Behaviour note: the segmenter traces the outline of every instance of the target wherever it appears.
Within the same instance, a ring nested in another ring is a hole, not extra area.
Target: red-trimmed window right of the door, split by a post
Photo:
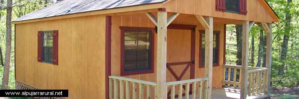
[[[213,33],[213,66],[219,66],[219,34],[220,32]],[[205,62],[205,31],[200,31],[199,42],[199,67],[204,67]]]

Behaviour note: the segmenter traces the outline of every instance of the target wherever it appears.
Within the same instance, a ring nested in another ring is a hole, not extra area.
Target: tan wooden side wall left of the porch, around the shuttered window
[[[69,99],[105,96],[104,15],[16,24],[16,80],[68,89]],[[59,65],[37,62],[37,32],[58,30]]]

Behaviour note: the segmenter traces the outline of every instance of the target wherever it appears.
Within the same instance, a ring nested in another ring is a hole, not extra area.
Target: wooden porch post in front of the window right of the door
[[[204,99],[212,97],[212,74],[213,74],[213,17],[205,17],[208,28],[205,29],[205,77],[208,78],[204,90]]]

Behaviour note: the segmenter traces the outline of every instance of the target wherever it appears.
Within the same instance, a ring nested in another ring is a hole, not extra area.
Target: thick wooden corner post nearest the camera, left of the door
[[[167,86],[166,86],[166,47],[167,47],[167,12],[165,8],[158,9],[157,16],[157,98],[167,99]]]

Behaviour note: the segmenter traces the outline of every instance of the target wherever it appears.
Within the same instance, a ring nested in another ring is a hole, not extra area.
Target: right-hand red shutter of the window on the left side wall
[[[58,30],[53,31],[53,64],[58,65]]]

